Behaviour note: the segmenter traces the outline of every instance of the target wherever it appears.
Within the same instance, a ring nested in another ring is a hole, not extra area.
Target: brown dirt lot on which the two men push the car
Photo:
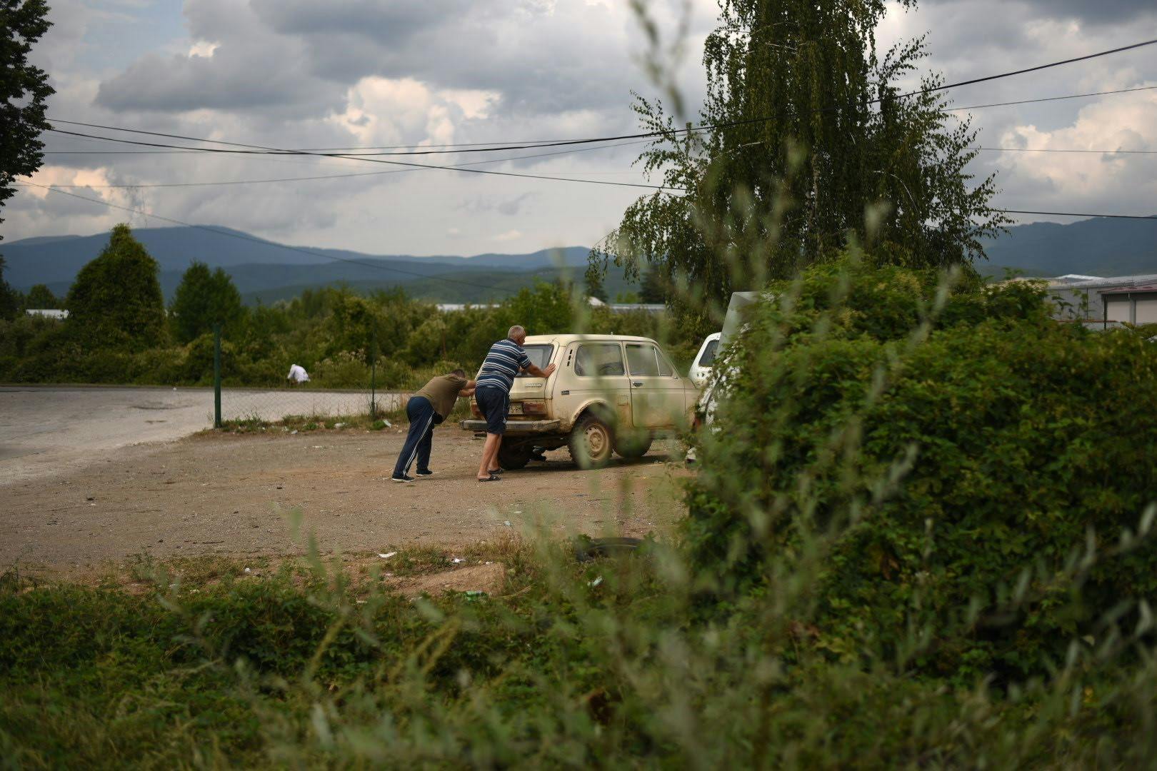
[[[673,442],[598,472],[555,451],[547,464],[480,484],[480,443],[447,427],[434,437],[435,476],[397,484],[389,476],[403,438],[349,429],[206,433],[8,482],[0,485],[0,571],[91,568],[139,554],[294,554],[302,546],[290,535],[292,512],[323,551],[346,553],[465,546],[536,522],[560,534],[664,533],[681,513],[676,480],[688,472]]]

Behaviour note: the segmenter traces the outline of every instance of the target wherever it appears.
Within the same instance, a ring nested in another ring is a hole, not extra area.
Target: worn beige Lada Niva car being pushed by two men
[[[639,458],[656,438],[690,423],[699,391],[681,377],[658,343],[626,335],[533,335],[523,343],[548,378],[522,373],[510,390],[507,430],[499,450],[502,468],[522,468],[531,452],[566,445],[581,468],[599,468],[611,451]],[[476,418],[478,405],[471,400]],[[465,420],[467,431],[486,430]]]

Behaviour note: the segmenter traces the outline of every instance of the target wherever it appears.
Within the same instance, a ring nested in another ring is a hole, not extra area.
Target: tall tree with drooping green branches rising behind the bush
[[[1008,220],[989,207],[995,176],[966,169],[975,132],[948,112],[938,75],[899,87],[928,55],[924,38],[877,54],[884,0],[720,6],[703,52],[708,128],[688,131],[661,101],[636,97],[657,133],[639,163],[676,192],[628,207],[592,250],[591,273],[649,265],[686,287],[684,302],[669,299],[709,325],[732,290],[791,276],[850,239],[909,267],[983,257]]]

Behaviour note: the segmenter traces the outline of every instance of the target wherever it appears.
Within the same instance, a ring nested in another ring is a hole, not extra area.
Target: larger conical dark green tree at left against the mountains
[[[68,290],[68,328],[91,348],[157,346],[164,341],[164,297],[160,266],[126,224],[88,262]]]

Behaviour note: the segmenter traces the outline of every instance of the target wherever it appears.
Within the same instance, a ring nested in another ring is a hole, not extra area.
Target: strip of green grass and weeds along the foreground
[[[487,561],[506,576],[487,595],[410,600],[386,576]],[[96,585],[9,571],[0,751],[27,768],[943,768],[1151,750],[1143,660],[953,688],[834,659],[771,595],[705,621],[685,570],[662,543],[578,563],[510,541],[142,557]]]

